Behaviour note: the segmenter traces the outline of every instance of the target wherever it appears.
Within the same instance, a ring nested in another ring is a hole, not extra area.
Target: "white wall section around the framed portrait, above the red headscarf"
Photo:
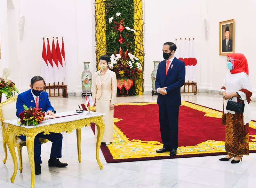
[[[223,13],[223,7],[228,5],[228,14]],[[255,44],[256,36],[256,1],[255,0],[215,0],[209,1],[210,28],[209,48],[210,61],[212,63],[212,87],[219,90],[226,74],[226,56],[219,56],[219,22],[235,19],[235,52],[243,53],[248,61],[249,77],[253,89],[253,97],[256,97],[256,63]],[[222,7],[222,11],[220,11]],[[202,62],[203,63],[203,62]]]

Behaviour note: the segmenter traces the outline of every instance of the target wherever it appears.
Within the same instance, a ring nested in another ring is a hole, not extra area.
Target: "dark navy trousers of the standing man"
[[[178,126],[180,106],[170,107],[165,103],[159,105],[159,122],[164,148],[178,148]]]

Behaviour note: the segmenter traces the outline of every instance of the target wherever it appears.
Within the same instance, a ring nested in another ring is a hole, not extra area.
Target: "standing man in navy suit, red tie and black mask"
[[[165,60],[158,65],[156,73],[157,104],[163,148],[157,153],[177,154],[179,108],[181,105],[180,87],[185,83],[185,63],[174,57],[177,46],[172,42],[164,43]]]

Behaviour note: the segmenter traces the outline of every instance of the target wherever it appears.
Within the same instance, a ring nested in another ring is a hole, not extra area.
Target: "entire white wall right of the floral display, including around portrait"
[[[224,7],[228,5],[228,13]],[[151,88],[153,61],[163,60],[162,45],[175,38],[195,37],[198,89],[220,90],[227,71],[226,56],[219,55],[219,22],[235,19],[235,52],[248,60],[253,97],[256,97],[255,0],[182,0],[144,1],[145,22],[145,90]],[[207,19],[208,39],[204,34]]]

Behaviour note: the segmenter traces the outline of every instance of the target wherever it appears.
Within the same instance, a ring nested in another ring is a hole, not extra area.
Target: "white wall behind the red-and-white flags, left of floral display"
[[[31,77],[40,74],[42,38],[49,37],[52,47],[53,36],[59,37],[59,43],[61,37],[64,37],[68,92],[81,92],[83,61],[92,61],[95,51],[92,44],[95,30],[92,25],[94,1],[12,0],[11,2],[14,5],[12,10],[6,9],[6,0],[1,1],[0,4],[3,18],[8,20],[4,24],[1,22],[0,73],[3,68],[11,67],[10,78],[21,91],[26,90]],[[25,17],[22,40],[19,33],[21,16]],[[8,36],[3,36],[2,32],[7,33],[5,30],[8,31]],[[45,43],[47,45],[47,40]],[[9,50],[9,54],[3,49]],[[93,64],[95,62],[90,65],[91,72],[95,70]]]

